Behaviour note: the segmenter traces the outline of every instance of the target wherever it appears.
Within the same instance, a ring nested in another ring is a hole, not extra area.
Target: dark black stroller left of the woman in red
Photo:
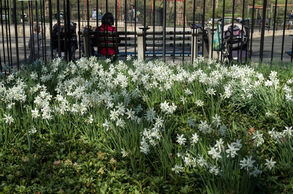
[[[52,59],[60,57],[62,61],[66,61],[65,59],[65,33],[66,29],[64,27],[64,23],[60,23],[60,37],[58,37],[58,23],[56,23],[52,30],[52,37],[53,37],[53,56]],[[70,22],[70,33],[71,33],[71,48],[67,48],[67,50],[71,49],[71,59],[75,58],[75,51],[78,49],[77,45],[77,36],[76,36],[76,23]],[[60,39],[61,45],[61,56],[59,56],[58,50],[58,38]],[[68,52],[67,52],[68,55]]]

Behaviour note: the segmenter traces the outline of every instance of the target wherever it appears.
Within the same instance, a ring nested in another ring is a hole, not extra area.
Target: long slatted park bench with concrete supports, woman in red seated
[[[119,35],[119,37],[116,38],[116,33],[117,35]],[[183,51],[166,51],[165,52],[165,56],[166,57],[182,57],[183,55],[186,57],[193,57],[194,59],[197,58],[198,55],[201,55],[201,52],[197,52],[197,48],[198,47],[202,47],[202,41],[197,42],[199,37],[202,37],[202,35],[204,35],[204,39],[207,40],[209,35],[208,35],[208,30],[205,30],[204,32],[201,31],[197,31],[195,30],[195,34],[193,35],[193,31],[185,31],[185,37],[183,38],[183,32],[182,31],[177,31],[177,32],[166,32],[166,44],[165,44],[165,48],[168,47],[183,47],[183,43],[182,42],[175,42],[174,44],[174,39],[175,41],[183,41],[183,39],[185,41],[189,41],[191,40],[191,43],[185,42],[184,43],[184,47],[191,47],[192,48],[192,42],[195,42],[195,47],[194,47],[194,52],[192,53],[192,51],[185,51],[183,53]],[[146,40],[144,40],[143,37],[143,31],[142,30],[137,30],[136,32],[95,32],[95,31],[89,31],[88,29],[83,30],[82,32],[79,32],[79,35],[83,36],[83,43],[80,42],[80,46],[84,47],[84,56],[85,57],[89,57],[92,55],[95,55],[96,57],[99,57],[98,52],[95,52],[94,54],[91,53],[91,47],[94,47],[95,50],[97,47],[137,47],[137,52],[119,52],[117,53],[117,57],[126,57],[127,55],[130,56],[136,56],[138,57],[138,59],[142,59],[145,57],[160,57],[163,56],[163,52],[162,49],[159,49],[160,51],[145,51],[144,52],[144,47],[153,47],[153,48],[160,48],[163,47],[163,32],[146,32]],[[126,35],[126,38],[125,38]],[[134,36],[136,35],[136,36]],[[155,35],[155,38],[154,38]],[[175,38],[174,38],[175,35]],[[107,37],[108,36],[108,37]],[[211,36],[211,35],[210,35]],[[194,38],[194,40],[193,40]],[[211,42],[211,37],[209,37],[209,42],[208,44],[204,44],[204,47],[202,48],[202,50],[204,50],[204,54],[205,57],[209,57],[209,45]],[[118,42],[118,40],[120,40],[120,43],[116,43]],[[136,41],[136,43],[134,44],[133,41]],[[158,41],[158,42],[150,42],[152,40]],[[98,42],[105,42],[105,43],[98,43]],[[109,41],[113,42],[113,43],[108,43]],[[127,41],[132,41],[131,43],[127,42]],[[148,42],[146,42],[148,41]],[[169,41],[172,41],[172,43],[170,43]],[[90,43],[90,45],[88,45],[88,43]]]

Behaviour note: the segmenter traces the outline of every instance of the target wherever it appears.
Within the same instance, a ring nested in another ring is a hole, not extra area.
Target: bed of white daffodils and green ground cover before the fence
[[[292,70],[26,65],[0,81],[0,193],[293,192]]]

